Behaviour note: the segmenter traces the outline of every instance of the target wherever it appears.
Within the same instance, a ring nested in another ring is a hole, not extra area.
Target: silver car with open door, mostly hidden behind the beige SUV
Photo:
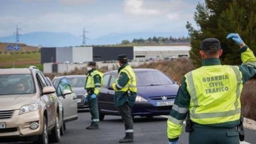
[[[54,86],[50,80],[47,79],[47,84]],[[77,97],[76,94],[72,91],[72,88],[69,84],[69,81],[66,77],[63,77],[59,80],[55,86],[57,97],[62,104],[63,112],[63,127],[61,127],[61,134],[64,135],[64,130],[66,130],[66,123],[72,120],[77,120]]]

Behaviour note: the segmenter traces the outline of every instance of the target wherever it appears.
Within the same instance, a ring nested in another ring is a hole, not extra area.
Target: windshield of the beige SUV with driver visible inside
[[[2,74],[0,75],[0,95],[32,94],[35,87],[31,74]]]

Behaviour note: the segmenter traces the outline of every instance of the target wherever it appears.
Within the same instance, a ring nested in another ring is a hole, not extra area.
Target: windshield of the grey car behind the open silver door
[[[84,87],[86,77],[73,77],[73,78],[67,78],[69,80],[69,84],[71,87]],[[60,79],[55,79],[53,81],[53,85],[56,87],[59,83]]]

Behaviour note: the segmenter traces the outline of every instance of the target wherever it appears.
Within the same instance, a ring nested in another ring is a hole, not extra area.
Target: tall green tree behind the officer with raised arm
[[[227,40],[228,33],[239,33],[244,42],[256,50],[256,0],[205,0],[199,3],[194,21],[199,30],[187,22],[186,28],[191,39],[190,57],[196,67],[201,66],[199,49],[205,38],[218,38],[223,48],[220,57],[223,64],[241,64],[238,46]]]

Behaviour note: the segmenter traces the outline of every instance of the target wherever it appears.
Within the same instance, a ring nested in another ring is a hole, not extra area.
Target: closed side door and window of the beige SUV
[[[45,79],[43,78],[43,75],[40,72],[37,72],[36,79],[38,81],[40,91],[41,93],[43,93],[43,88],[47,86]],[[41,96],[41,99],[43,100],[43,102],[45,102],[45,105],[46,105],[48,127],[51,127],[52,125],[55,124],[55,118],[54,118],[55,103],[51,99],[51,94],[44,94]]]

